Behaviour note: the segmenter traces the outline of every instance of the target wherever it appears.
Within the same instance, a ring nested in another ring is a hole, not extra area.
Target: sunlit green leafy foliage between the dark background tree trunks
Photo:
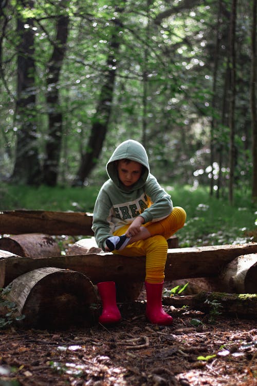
[[[89,182],[97,183],[101,179],[106,158],[120,138],[141,140],[145,129],[154,174],[163,181],[172,179],[181,184],[208,184],[210,124],[214,119],[214,161],[218,163],[219,157],[223,157],[221,189],[226,189],[229,130],[227,122],[222,119],[223,108],[226,110],[227,106],[222,103],[226,99],[229,2],[224,2],[223,12],[219,15],[218,39],[222,49],[218,52],[215,105],[212,98],[217,2],[184,4],[161,1],[152,2],[150,7],[141,0],[119,2],[118,5],[113,0],[107,5],[102,0],[43,1],[34,2],[33,7],[20,1],[4,3],[0,179],[7,179],[12,173],[19,133],[15,100],[16,59],[21,36],[16,33],[16,18],[22,18],[24,25],[28,19],[33,23],[36,76],[31,93],[36,95],[36,106],[29,114],[31,118],[28,116],[26,119],[31,119],[36,127],[36,144],[42,162],[48,138],[47,68],[53,48],[58,46],[56,25],[62,15],[69,17],[69,38],[60,80],[58,85],[52,84],[59,90],[59,100],[54,109],[63,114],[59,182],[70,183],[80,166],[81,154],[86,150],[92,123],[96,119],[103,78],[109,68],[107,59],[114,54],[110,42],[116,32],[119,50],[113,59],[117,71],[112,116],[99,166],[94,169]],[[251,13],[243,2],[238,7],[236,39],[240,49],[237,50],[236,74],[235,183],[249,189],[252,172],[249,130]],[[197,170],[203,173],[195,176]]]

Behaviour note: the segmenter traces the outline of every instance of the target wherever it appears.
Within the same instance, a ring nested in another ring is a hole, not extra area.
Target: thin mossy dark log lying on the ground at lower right
[[[221,292],[199,292],[196,295],[187,296],[164,296],[164,305],[176,308],[188,306],[203,312],[210,312],[216,307],[216,311],[240,315],[247,319],[257,317],[257,295],[256,294],[234,294]],[[220,305],[220,306],[219,306]]]

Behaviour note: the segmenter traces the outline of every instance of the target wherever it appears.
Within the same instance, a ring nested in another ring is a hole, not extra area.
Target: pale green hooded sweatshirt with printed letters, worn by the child
[[[118,177],[115,161],[122,159],[144,166],[139,180],[129,188]],[[169,216],[173,209],[170,195],[150,173],[148,156],[139,142],[132,139],[122,142],[107,162],[106,171],[109,180],[99,191],[92,226],[96,242],[102,249],[104,241],[113,236],[114,231],[132,223],[136,216],[142,216],[144,223],[154,222]]]

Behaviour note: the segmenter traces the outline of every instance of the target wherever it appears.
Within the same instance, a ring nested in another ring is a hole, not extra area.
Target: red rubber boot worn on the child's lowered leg
[[[153,324],[159,326],[170,326],[173,323],[173,318],[162,309],[162,283],[151,284],[144,283],[146,289],[146,318]]]

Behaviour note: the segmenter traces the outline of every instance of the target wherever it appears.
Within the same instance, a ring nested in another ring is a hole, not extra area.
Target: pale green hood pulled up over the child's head
[[[150,172],[148,155],[145,151],[145,148],[139,142],[134,141],[134,139],[128,139],[127,141],[122,142],[114,150],[111,158],[107,162],[106,171],[108,173],[109,178],[111,178],[111,180],[113,180],[115,185],[118,186],[119,188],[122,188],[123,185],[119,180],[117,165],[115,161],[124,160],[124,159],[138,162],[144,166],[140,179],[136,182],[136,184],[132,188],[130,188],[130,190],[140,188],[145,184],[145,181],[147,180]],[[127,190],[127,189],[124,189],[124,190]]]

